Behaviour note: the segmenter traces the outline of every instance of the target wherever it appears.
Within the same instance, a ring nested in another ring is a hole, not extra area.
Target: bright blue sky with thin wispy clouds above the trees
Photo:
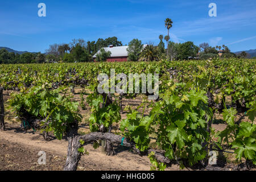
[[[46,4],[46,17],[38,4]],[[217,17],[210,17],[216,3]],[[196,45],[225,44],[231,51],[256,49],[255,0],[17,0],[0,3],[0,47],[45,52],[50,44],[117,36],[123,45],[138,38],[159,43],[167,35],[164,19],[171,18],[171,40]]]

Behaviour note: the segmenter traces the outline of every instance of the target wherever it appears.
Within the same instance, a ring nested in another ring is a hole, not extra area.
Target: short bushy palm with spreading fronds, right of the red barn
[[[147,45],[141,55],[139,56],[139,61],[158,61],[158,50],[153,45]]]

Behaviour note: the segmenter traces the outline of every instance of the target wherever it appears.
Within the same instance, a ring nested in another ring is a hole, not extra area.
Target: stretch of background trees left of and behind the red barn
[[[79,63],[92,61],[92,56],[101,48],[122,46],[122,42],[113,36],[106,39],[98,39],[97,42],[85,42],[84,39],[73,39],[70,43],[52,44],[46,53],[26,52],[22,55],[8,52],[5,48],[0,50],[0,64],[30,64],[30,63]]]

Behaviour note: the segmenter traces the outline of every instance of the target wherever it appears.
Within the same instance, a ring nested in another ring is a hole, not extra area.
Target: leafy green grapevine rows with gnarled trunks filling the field
[[[81,155],[90,155],[89,143],[106,155],[119,155],[117,145],[130,148],[148,156],[152,170],[172,164],[221,170],[211,164],[220,151],[235,155],[233,169],[254,169],[255,65],[254,59],[0,65],[0,93],[9,97],[4,111],[1,106],[0,132],[6,132],[5,122],[13,116],[25,131],[42,131],[47,141],[49,133],[66,138],[68,171],[77,169]],[[98,93],[97,77],[111,77],[110,69],[115,76],[151,73],[153,82],[159,74],[158,99],[130,90]],[[225,128],[216,130],[216,122]],[[81,127],[89,132],[79,132]]]

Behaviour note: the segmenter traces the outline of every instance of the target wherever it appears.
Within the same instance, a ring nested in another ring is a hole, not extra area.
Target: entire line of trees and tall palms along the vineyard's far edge
[[[148,43],[143,47],[141,40],[133,39],[129,42],[127,48],[129,61],[159,61],[167,60],[187,60],[187,59],[210,59],[214,57],[238,57],[245,58],[247,53],[241,52],[236,55],[225,46],[210,47],[208,43],[202,43],[196,46],[193,42],[175,43],[170,41],[170,28],[172,20],[167,18],[164,25],[168,30],[166,36],[159,35],[160,42],[158,46]],[[167,48],[165,43],[167,44]],[[70,43],[52,44],[46,50],[46,53],[18,53],[8,52],[6,49],[0,50],[0,64],[27,64],[27,63],[79,63],[93,61],[93,55],[96,55],[96,61],[106,61],[111,56],[111,52],[106,52],[104,47],[110,45],[123,46],[117,37],[113,36],[106,39],[98,39],[97,42],[85,42],[84,39],[73,39]],[[100,50],[100,51],[99,51]]]

